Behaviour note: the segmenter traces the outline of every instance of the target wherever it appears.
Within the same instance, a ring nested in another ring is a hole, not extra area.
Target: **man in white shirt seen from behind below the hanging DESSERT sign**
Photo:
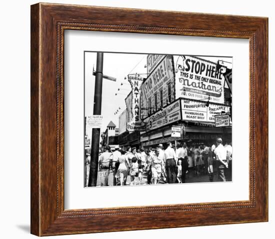
[[[214,150],[214,153],[216,154],[216,160],[217,160],[217,171],[218,171],[218,179],[219,181],[226,181],[225,175],[224,175],[224,169],[228,168],[228,163],[226,162],[226,154],[227,150],[222,145],[222,139],[221,137],[218,137],[216,139],[217,147]]]

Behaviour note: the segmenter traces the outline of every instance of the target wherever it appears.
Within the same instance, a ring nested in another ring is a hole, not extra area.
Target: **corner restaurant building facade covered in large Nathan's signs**
[[[147,77],[140,92],[145,126],[130,133],[125,127],[121,134],[119,130],[119,145],[146,148],[177,141],[210,145],[217,136],[230,143],[231,92],[224,78],[230,70],[218,61],[196,56],[148,54]],[[216,127],[215,115],[221,114],[228,114],[230,122]],[[119,124],[127,123],[125,113],[120,116]],[[181,128],[180,136],[172,136],[172,126]]]

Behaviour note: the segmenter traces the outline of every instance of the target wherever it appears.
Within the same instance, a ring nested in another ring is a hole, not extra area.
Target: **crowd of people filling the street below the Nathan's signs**
[[[167,143],[155,148],[137,149],[128,146],[126,151],[118,146],[114,151],[106,146],[99,155],[99,170],[108,169],[113,172],[113,185],[126,185],[130,177],[130,185],[158,183],[184,183],[186,173],[194,175],[207,174],[209,181],[231,181],[232,147],[216,138],[212,145],[186,142],[174,145]]]

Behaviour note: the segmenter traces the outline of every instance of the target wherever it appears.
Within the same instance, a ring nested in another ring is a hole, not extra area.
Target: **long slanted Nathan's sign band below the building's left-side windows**
[[[180,102],[179,100],[176,100],[164,107],[162,110],[159,110],[146,118],[146,130],[159,128],[178,120],[180,120]]]

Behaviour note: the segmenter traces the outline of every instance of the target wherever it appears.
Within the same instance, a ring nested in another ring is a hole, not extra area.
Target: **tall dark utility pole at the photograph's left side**
[[[93,99],[94,115],[101,114],[102,76],[103,76],[102,71],[103,71],[103,52],[97,52],[94,99]],[[90,171],[89,171],[88,186],[96,186],[98,154],[99,154],[99,138],[100,138],[100,128],[93,128],[92,134],[91,134]]]

